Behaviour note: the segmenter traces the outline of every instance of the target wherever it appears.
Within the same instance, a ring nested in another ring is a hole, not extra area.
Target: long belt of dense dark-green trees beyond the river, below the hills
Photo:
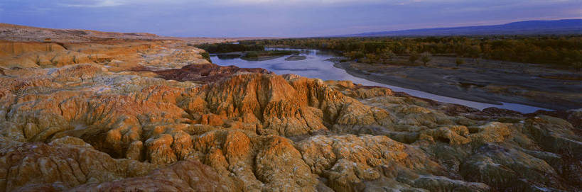
[[[297,38],[247,40],[242,41],[239,46],[257,48],[286,46],[335,50],[342,52],[346,57],[365,62],[382,62],[396,55],[423,57],[420,55],[424,53],[424,55],[551,64],[559,68],[582,68],[582,36],[580,35],[473,38]]]

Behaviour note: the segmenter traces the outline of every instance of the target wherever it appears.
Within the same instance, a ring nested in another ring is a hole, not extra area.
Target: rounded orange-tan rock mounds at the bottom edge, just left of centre
[[[234,175],[249,191],[313,191],[319,182],[290,140],[240,130],[212,131],[195,139],[205,164]]]

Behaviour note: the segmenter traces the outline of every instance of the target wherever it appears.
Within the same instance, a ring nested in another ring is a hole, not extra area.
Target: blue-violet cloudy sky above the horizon
[[[315,37],[582,18],[582,0],[1,0],[0,23],[179,37]]]

